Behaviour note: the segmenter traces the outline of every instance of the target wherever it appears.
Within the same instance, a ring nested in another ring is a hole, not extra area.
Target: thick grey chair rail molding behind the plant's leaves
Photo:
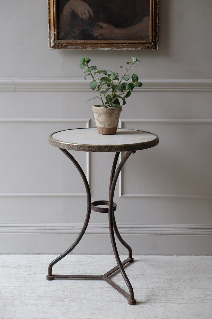
[[[212,79],[140,79],[138,92],[212,92]],[[90,92],[83,78],[0,78],[0,91],[73,91]]]

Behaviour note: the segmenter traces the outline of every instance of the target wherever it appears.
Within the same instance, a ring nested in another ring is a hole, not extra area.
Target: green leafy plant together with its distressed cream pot
[[[89,65],[91,62],[89,57],[80,57],[80,68],[86,68],[84,78],[90,76],[92,78],[92,82],[89,84],[90,88],[99,93],[88,101],[101,100],[99,105],[92,106],[99,134],[116,133],[122,105],[126,104],[126,98],[131,95],[134,87],[142,86],[137,74],[128,74],[133,64],[139,63],[136,57],[132,56],[131,60],[132,62],[127,62],[127,68],[120,66],[124,69],[123,75],[120,77],[116,71],[99,70],[96,65]]]

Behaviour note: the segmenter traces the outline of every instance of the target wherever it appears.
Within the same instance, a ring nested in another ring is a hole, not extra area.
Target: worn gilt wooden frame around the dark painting
[[[58,40],[57,0],[48,0],[49,48],[51,49],[111,49],[111,50],[157,50],[159,0],[150,1],[149,41],[126,40]]]

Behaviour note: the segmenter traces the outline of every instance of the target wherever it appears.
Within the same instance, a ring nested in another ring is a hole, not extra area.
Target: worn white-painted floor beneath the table
[[[125,270],[135,306],[102,280],[47,281],[48,264],[55,257],[0,256],[0,318],[212,318],[212,256],[134,256]],[[115,265],[113,256],[69,255],[53,273],[103,274]],[[113,280],[126,289],[120,274]]]

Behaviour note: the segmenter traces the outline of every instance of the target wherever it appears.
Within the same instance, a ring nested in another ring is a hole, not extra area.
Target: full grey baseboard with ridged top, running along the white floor
[[[0,253],[60,254],[77,238],[82,224],[0,224]],[[211,255],[212,225],[118,225],[134,254]],[[126,249],[117,241],[120,254]],[[112,254],[109,228],[91,224],[74,249],[77,254]]]

